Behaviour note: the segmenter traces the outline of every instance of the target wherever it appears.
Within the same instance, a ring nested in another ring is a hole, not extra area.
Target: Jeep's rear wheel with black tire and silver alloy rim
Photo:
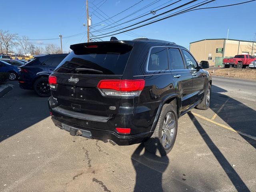
[[[168,114],[170,118],[166,122]],[[149,140],[144,142],[146,150],[154,154],[161,154],[161,156],[168,154],[174,146],[177,130],[178,116],[176,108],[172,104],[164,104],[154,133]]]

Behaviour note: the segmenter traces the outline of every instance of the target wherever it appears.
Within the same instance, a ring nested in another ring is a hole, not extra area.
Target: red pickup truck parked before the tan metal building
[[[251,55],[236,55],[234,58],[223,59],[224,68],[229,68],[230,66],[236,68],[246,68],[249,66],[250,62],[254,61],[255,58]]]

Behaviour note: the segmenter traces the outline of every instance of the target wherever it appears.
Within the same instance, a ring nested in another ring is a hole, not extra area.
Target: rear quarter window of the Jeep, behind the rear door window
[[[148,70],[158,71],[168,69],[168,58],[165,47],[155,47],[151,49]]]

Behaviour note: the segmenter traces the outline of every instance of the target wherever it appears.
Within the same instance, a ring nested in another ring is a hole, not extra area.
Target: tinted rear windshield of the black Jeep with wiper
[[[132,47],[102,47],[71,52],[56,72],[70,74],[122,75]],[[76,53],[75,53],[76,52]]]

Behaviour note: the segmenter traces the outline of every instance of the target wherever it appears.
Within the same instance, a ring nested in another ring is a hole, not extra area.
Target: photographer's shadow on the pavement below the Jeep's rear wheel
[[[156,155],[148,152],[144,144],[140,144],[132,154],[132,164],[136,170],[134,192],[163,192],[162,175],[169,164],[166,155]]]

